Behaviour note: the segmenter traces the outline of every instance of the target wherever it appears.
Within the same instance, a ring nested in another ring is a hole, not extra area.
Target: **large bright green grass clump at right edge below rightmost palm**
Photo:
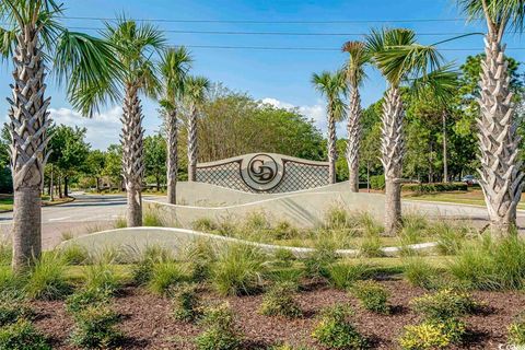
[[[516,234],[501,240],[485,236],[466,245],[450,265],[463,284],[481,290],[525,288],[525,242]]]

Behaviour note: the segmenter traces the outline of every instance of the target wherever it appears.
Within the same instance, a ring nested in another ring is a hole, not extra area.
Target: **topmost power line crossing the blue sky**
[[[83,21],[118,21],[118,18],[95,16],[62,16],[65,20]],[[464,18],[456,19],[411,19],[411,20],[330,20],[330,21],[260,21],[260,20],[170,20],[170,19],[131,19],[137,22],[163,22],[163,23],[228,23],[228,24],[357,24],[357,23],[425,23],[425,22],[458,22],[466,21]]]

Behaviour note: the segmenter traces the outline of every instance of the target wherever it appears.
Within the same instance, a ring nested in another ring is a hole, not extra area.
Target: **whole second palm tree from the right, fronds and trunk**
[[[410,30],[373,30],[366,36],[366,48],[388,82],[383,102],[381,161],[385,173],[385,233],[394,235],[401,222],[405,115],[401,84],[411,85],[417,92],[430,86],[440,94],[442,84],[450,82],[450,66],[440,68],[441,56],[435,47],[417,44]],[[435,71],[430,72],[432,69]]]

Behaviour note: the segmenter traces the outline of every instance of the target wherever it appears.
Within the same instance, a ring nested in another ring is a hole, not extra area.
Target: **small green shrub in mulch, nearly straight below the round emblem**
[[[262,298],[259,312],[266,316],[300,317],[303,312],[293,299],[295,285],[291,283],[278,283]]]

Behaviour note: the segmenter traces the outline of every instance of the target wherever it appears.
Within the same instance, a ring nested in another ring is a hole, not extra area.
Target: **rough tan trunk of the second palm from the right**
[[[383,104],[381,144],[381,162],[385,172],[385,234],[387,235],[395,235],[401,222],[402,118],[399,88],[390,86]]]

